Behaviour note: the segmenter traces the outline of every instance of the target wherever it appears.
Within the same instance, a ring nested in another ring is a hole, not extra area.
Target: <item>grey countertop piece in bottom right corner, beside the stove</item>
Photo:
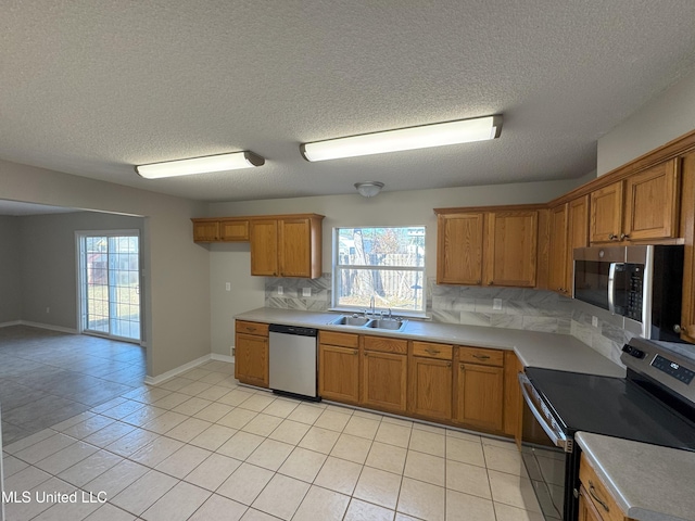
[[[628,517],[695,521],[695,453],[586,432],[576,440]]]

